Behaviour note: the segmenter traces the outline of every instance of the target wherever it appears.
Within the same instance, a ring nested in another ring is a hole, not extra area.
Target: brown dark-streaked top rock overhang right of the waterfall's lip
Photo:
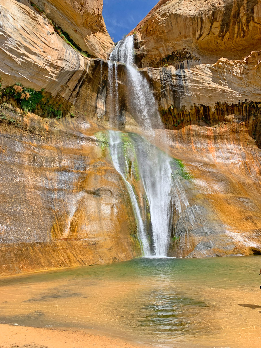
[[[241,60],[260,50],[259,0],[161,0],[133,30],[140,66]],[[132,32],[132,33],[133,33]]]

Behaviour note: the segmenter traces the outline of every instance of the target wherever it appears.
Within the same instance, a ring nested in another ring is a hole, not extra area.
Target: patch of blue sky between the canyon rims
[[[128,34],[158,0],[103,0],[103,18],[114,42]]]

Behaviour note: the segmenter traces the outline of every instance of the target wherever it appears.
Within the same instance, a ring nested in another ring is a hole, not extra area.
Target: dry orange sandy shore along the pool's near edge
[[[84,331],[0,324],[1,348],[148,348],[120,338]],[[150,347],[151,348],[151,347]]]

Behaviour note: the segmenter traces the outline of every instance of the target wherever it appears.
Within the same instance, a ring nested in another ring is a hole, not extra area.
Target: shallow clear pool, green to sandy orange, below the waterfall
[[[260,256],[142,258],[0,279],[0,322],[171,347],[259,348]]]

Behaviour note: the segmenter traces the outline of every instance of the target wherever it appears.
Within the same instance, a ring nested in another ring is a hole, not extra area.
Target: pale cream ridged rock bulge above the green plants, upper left
[[[51,35],[48,19],[25,0],[2,1],[0,16],[2,87],[20,82],[72,102],[89,60]]]

